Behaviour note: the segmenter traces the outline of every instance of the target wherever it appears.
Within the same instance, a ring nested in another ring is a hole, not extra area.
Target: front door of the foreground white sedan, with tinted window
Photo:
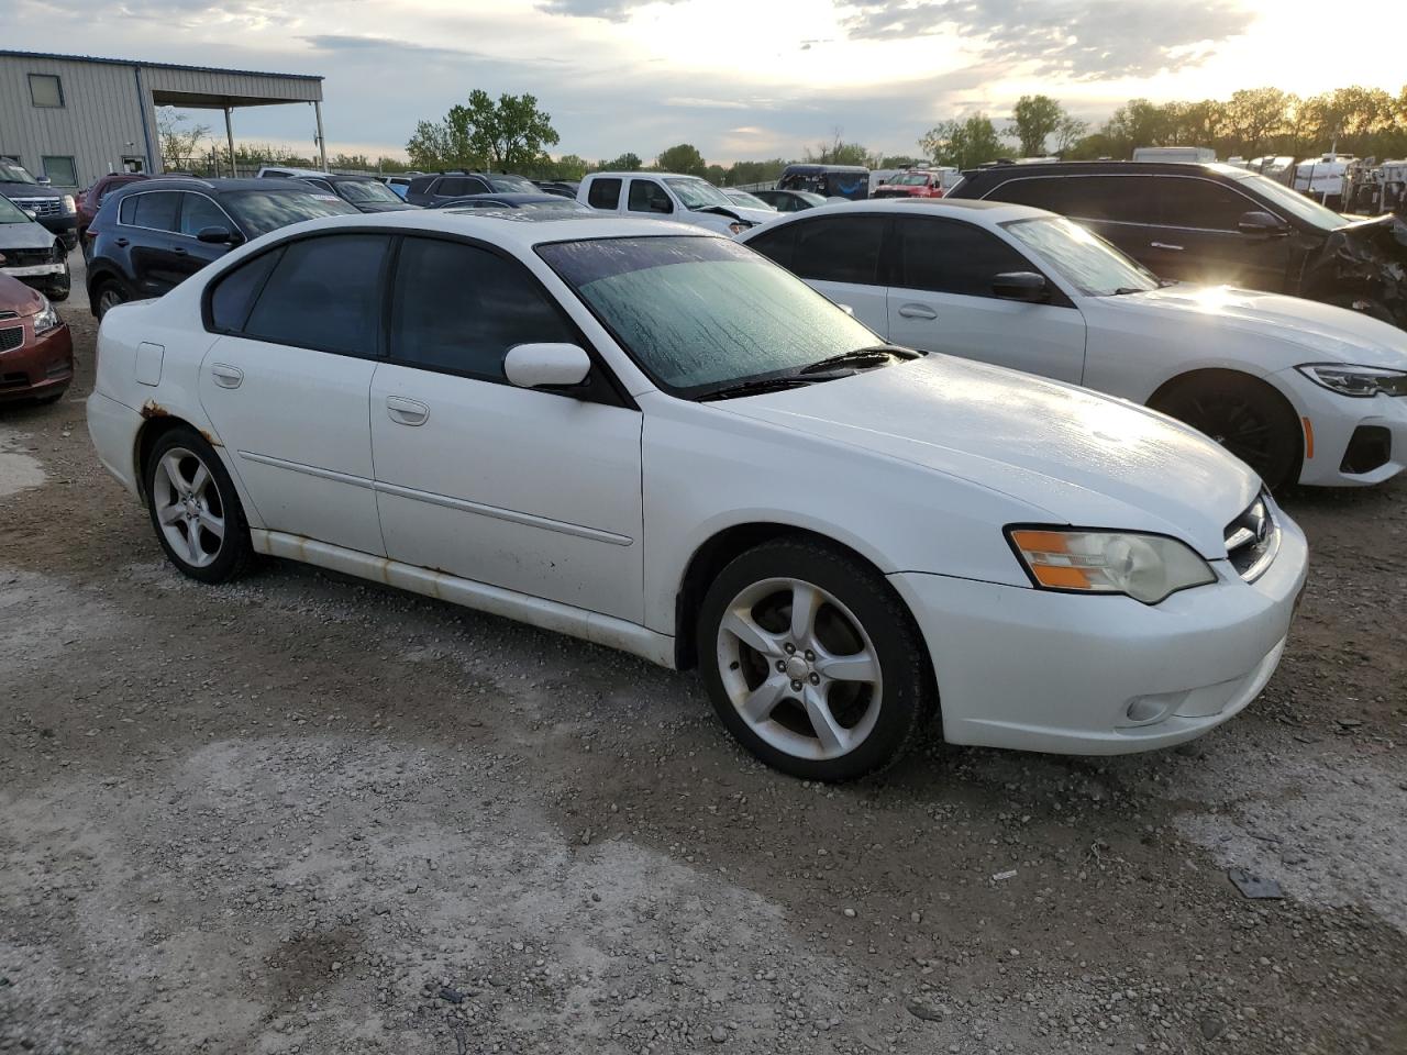
[[[519,262],[432,238],[402,243],[393,305],[370,404],[387,554],[640,622],[640,412],[504,377],[512,346],[577,329]]]

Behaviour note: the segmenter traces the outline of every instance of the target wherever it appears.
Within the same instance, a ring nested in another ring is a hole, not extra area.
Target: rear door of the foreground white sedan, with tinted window
[[[231,269],[211,293],[227,332],[200,373],[215,439],[265,525],[378,556],[367,398],[388,243],[322,235]]]

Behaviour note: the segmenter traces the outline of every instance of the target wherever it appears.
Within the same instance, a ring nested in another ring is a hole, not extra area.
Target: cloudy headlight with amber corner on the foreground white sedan
[[[1157,605],[1179,589],[1217,581],[1190,546],[1165,535],[1009,528],[1007,537],[1037,589],[1126,594]]]

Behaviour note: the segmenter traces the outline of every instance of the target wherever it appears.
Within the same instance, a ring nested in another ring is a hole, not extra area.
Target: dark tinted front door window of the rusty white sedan
[[[521,264],[459,242],[408,238],[397,264],[391,356],[501,380],[514,345],[580,338]]]

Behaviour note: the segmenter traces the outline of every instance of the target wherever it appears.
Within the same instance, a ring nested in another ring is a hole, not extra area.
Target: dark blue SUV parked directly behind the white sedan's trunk
[[[152,179],[121,187],[89,234],[89,307],[97,318],[160,297],[236,245],[301,219],[356,212],[298,180]]]

